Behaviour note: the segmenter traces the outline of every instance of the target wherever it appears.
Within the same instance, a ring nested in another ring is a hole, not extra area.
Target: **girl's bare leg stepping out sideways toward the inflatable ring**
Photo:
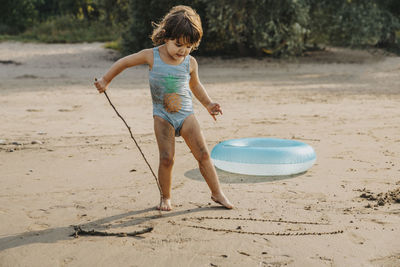
[[[199,163],[200,172],[211,190],[211,199],[228,209],[232,209],[233,205],[221,190],[218,175],[212,164],[199,122],[194,115],[185,119],[180,133]]]

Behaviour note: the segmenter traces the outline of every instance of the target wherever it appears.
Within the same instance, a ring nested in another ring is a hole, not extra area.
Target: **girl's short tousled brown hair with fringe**
[[[181,39],[185,44],[197,48],[203,36],[200,16],[191,7],[175,6],[164,16],[151,35],[154,45],[161,45],[168,39]]]

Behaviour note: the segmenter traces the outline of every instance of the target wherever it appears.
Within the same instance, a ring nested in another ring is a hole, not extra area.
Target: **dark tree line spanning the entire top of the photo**
[[[122,48],[130,53],[151,46],[151,22],[178,4],[202,18],[201,54],[298,55],[315,44],[400,46],[399,0],[0,0],[0,34],[68,16],[124,29]]]

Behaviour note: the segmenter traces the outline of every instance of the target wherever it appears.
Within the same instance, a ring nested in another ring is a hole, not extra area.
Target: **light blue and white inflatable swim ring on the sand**
[[[211,151],[214,165],[224,171],[247,175],[292,175],[311,168],[314,149],[303,142],[277,138],[232,139]]]

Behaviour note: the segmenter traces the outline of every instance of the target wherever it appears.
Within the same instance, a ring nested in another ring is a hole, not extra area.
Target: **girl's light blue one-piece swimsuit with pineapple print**
[[[179,65],[162,61],[158,47],[153,48],[154,62],[149,73],[153,116],[168,121],[180,136],[183,121],[193,114],[190,81],[190,56]]]

